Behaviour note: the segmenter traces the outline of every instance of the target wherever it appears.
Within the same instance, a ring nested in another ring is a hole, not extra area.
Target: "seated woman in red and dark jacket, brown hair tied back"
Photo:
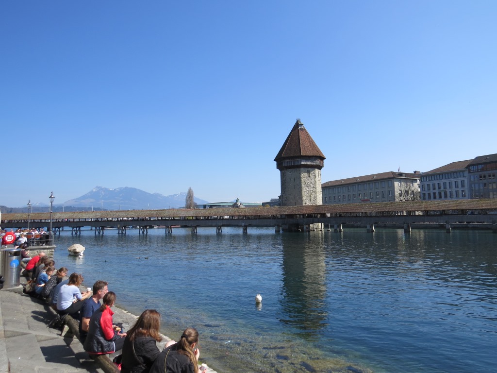
[[[84,351],[88,354],[112,354],[123,348],[126,333],[112,325],[111,307],[116,301],[116,293],[109,291],[104,295],[103,304],[93,313],[88,326],[88,334],[84,340]]]

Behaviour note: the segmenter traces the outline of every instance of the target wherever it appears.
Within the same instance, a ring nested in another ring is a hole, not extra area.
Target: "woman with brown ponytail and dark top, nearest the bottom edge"
[[[177,343],[159,354],[150,373],[198,373],[199,356],[198,332],[186,328]]]

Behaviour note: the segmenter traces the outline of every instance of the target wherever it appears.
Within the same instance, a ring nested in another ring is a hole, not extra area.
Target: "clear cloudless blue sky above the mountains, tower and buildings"
[[[296,118],[323,182],[496,153],[496,18],[494,0],[3,0],[0,204],[268,200]]]

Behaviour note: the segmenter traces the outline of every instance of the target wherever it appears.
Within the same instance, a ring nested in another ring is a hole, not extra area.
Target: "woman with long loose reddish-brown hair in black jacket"
[[[160,329],[161,314],[155,309],[143,311],[126,334],[122,351],[122,373],[149,373],[161,353],[156,345],[156,341],[162,340]]]

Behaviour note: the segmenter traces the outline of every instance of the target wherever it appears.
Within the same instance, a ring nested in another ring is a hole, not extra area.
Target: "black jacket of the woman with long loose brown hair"
[[[134,354],[132,347],[135,347]],[[122,351],[121,373],[148,373],[160,353],[156,340],[150,336],[135,337],[133,346],[126,337]]]

